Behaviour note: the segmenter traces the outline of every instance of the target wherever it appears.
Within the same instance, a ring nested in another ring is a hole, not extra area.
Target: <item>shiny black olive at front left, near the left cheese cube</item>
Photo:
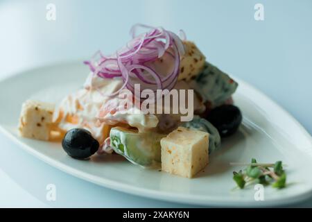
[[[98,150],[98,141],[92,137],[88,130],[74,128],[65,134],[62,147],[71,157],[85,159]]]

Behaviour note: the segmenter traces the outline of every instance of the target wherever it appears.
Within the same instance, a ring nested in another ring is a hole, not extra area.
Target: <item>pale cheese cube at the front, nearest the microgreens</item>
[[[160,144],[162,171],[192,178],[208,164],[209,133],[179,127]]]

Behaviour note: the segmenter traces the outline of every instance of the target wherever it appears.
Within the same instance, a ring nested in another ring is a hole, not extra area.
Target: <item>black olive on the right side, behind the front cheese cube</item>
[[[220,105],[207,116],[207,120],[217,128],[221,137],[228,137],[236,132],[243,117],[235,105]]]

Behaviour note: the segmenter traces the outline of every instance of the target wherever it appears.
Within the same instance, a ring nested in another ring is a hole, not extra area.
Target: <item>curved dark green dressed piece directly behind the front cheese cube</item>
[[[218,130],[206,119],[200,118],[197,115],[192,121],[183,122],[182,126],[193,130],[200,130],[209,133],[209,153],[212,153],[221,145],[221,137]]]

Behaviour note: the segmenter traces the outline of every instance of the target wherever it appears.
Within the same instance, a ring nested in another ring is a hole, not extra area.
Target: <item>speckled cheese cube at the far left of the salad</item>
[[[19,133],[22,137],[49,140],[54,105],[28,100],[21,107]]]

